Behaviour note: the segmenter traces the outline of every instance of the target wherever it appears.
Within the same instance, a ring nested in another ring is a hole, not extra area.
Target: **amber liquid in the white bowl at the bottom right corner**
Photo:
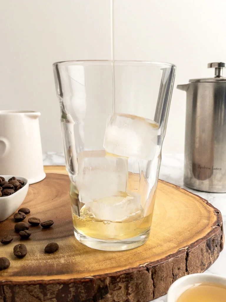
[[[193,284],[177,302],[225,302],[226,287],[215,283]]]

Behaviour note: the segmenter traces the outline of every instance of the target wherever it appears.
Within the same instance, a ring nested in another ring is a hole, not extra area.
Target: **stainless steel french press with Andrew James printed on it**
[[[215,77],[177,85],[187,92],[184,185],[226,192],[226,63],[209,63]]]

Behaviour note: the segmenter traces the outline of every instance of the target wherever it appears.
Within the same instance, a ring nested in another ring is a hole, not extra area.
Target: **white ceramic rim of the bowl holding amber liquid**
[[[192,284],[211,282],[226,286],[226,278],[213,274],[192,274],[175,281],[168,290],[167,302],[177,302],[177,299],[191,287]],[[226,300],[226,298],[225,298]]]

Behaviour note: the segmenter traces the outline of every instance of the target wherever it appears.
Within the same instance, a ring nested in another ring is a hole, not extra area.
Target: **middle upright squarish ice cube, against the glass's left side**
[[[82,151],[78,155],[78,175],[75,178],[80,201],[88,203],[127,190],[127,158],[105,151]]]

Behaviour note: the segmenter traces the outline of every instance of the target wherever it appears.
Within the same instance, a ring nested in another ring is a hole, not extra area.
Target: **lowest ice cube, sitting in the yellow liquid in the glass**
[[[118,192],[86,204],[86,209],[93,214],[95,220],[122,222],[132,221],[143,216],[140,206],[140,194],[134,192]]]

